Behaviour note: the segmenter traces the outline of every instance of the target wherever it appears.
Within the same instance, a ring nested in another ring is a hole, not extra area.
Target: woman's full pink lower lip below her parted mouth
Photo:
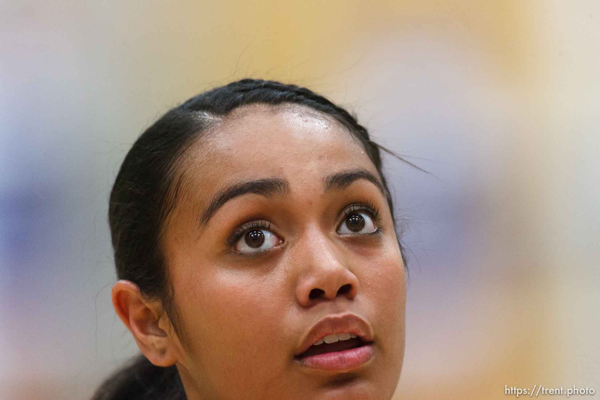
[[[349,350],[333,351],[332,353],[317,354],[302,357],[298,361],[308,368],[322,371],[350,371],[364,365],[373,358],[373,345],[365,344]]]

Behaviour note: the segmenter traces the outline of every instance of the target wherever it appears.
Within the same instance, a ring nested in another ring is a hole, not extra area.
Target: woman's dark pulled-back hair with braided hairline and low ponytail
[[[196,95],[173,108],[149,127],[125,156],[110,193],[109,223],[119,279],[134,282],[150,299],[160,299],[181,336],[181,320],[173,306],[164,227],[182,190],[182,157],[215,121],[249,104],[300,104],[331,116],[361,143],[373,161],[385,188],[389,210],[394,206],[382,173],[379,149],[356,118],[309,89],[260,79],[242,79]],[[410,163],[409,163],[410,164]],[[412,165],[412,164],[411,164]],[[398,235],[397,226],[396,237]],[[398,240],[404,265],[404,248]],[[181,338],[184,342],[185,338]],[[185,399],[176,366],[154,366],[144,356],[117,371],[98,389],[94,400]]]

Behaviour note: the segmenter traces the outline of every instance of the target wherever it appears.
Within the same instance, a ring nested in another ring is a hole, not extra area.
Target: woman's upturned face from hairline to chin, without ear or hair
[[[165,248],[188,398],[391,398],[404,266],[350,133],[306,107],[245,106],[182,169]]]

